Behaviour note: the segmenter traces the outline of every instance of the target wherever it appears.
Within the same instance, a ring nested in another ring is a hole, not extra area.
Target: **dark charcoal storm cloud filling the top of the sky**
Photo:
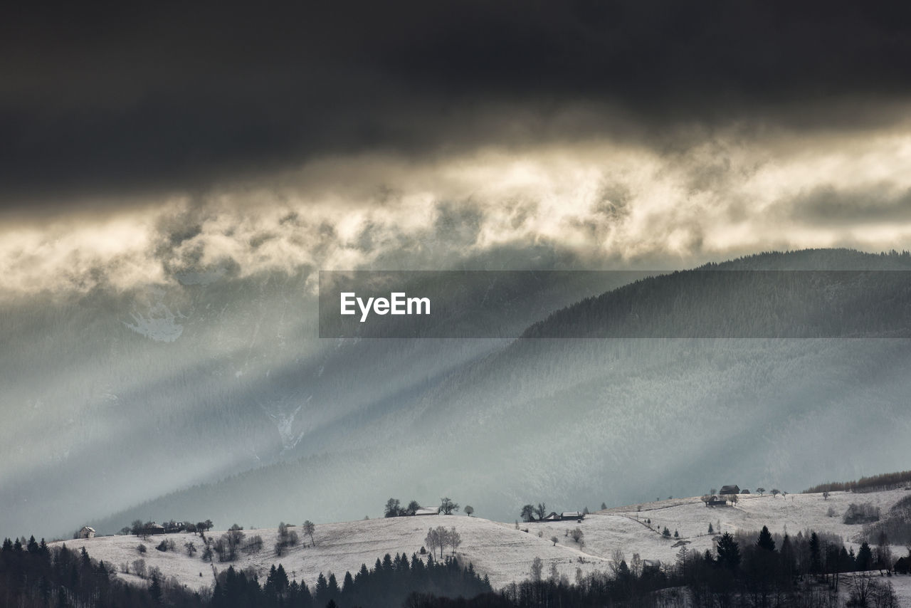
[[[876,104],[906,93],[909,10],[29,5],[5,13],[0,32],[0,185],[15,205],[53,201],[48,193],[206,189],[363,150],[640,138],[692,121],[888,120]]]

